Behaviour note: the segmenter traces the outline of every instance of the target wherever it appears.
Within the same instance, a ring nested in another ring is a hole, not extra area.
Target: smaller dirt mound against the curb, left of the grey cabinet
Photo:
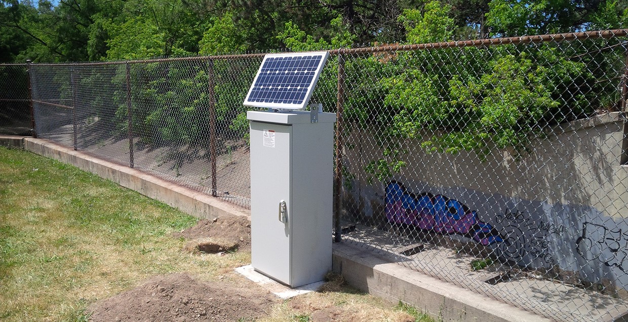
[[[214,239],[237,244],[238,250],[251,250],[251,222],[245,217],[202,219],[194,227],[173,233],[173,237],[187,240]]]

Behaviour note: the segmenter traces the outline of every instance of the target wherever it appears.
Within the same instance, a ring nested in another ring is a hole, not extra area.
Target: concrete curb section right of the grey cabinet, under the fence
[[[403,301],[440,321],[551,321],[413,271],[357,245],[333,244],[333,271],[360,291],[392,302]]]

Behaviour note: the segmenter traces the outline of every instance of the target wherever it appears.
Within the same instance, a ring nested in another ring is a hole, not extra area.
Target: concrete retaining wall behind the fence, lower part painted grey
[[[528,154],[492,149],[484,161],[467,151],[426,153],[421,140],[408,140],[399,147],[409,151],[401,155],[406,167],[391,180],[403,183],[402,198],[441,195],[489,224],[501,240],[470,242],[490,244],[503,259],[533,269],[575,272],[585,281],[623,289],[628,287],[623,126],[620,113],[598,115],[555,127],[548,138],[530,142]],[[399,209],[386,208],[386,193],[392,191],[386,183],[369,183],[365,167],[384,158],[377,140],[369,138],[374,135],[356,129],[347,140],[345,167],[355,179],[345,193],[345,207],[355,217],[381,225],[405,210],[400,210],[401,201]],[[388,197],[394,199],[390,192]],[[461,229],[453,238],[465,239]]]

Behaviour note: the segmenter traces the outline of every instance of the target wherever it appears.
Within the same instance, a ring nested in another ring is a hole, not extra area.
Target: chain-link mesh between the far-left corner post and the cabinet
[[[33,64],[37,133],[249,207],[242,101],[261,58]]]

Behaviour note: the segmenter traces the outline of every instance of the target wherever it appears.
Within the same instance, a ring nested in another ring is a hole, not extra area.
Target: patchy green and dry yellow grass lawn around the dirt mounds
[[[0,147],[0,320],[86,320],[90,303],[170,272],[242,283],[233,269],[250,263],[250,252],[181,252],[184,240],[170,233],[195,223],[190,215],[74,166]],[[408,306],[348,288],[300,301],[359,309],[374,321],[400,321],[403,314],[431,321]],[[289,302],[271,308],[264,320],[309,320],[307,309],[298,311]]]

